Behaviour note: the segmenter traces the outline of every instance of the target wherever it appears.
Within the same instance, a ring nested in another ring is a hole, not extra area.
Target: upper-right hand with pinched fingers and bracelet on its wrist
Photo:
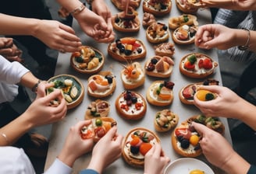
[[[219,50],[226,50],[236,46],[233,38],[233,29],[219,24],[207,24],[199,26],[195,35],[194,44],[204,49],[216,47]]]

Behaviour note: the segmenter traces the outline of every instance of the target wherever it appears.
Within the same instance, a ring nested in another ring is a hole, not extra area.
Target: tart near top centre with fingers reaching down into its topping
[[[140,19],[138,13],[132,8],[128,8],[128,14],[119,12],[112,16],[112,26],[119,32],[138,32],[140,30]]]

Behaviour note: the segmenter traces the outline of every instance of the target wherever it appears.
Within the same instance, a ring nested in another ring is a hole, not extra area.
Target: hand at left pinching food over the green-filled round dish
[[[36,99],[21,116],[24,117],[32,127],[52,124],[66,116],[66,100],[64,99],[62,92],[59,89],[56,89],[46,96],[45,89],[48,89],[51,86],[52,84],[41,82],[38,85]],[[51,106],[50,103],[54,99],[58,99],[58,106]]]

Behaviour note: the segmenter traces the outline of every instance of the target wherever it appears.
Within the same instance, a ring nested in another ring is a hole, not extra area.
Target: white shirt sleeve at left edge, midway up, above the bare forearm
[[[0,81],[9,84],[20,82],[20,78],[29,70],[17,61],[9,62],[0,55]]]

